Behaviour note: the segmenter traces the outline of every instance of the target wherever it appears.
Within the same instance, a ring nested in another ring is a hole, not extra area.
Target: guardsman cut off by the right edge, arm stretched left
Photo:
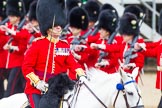
[[[162,10],[160,11],[159,33],[162,35]],[[158,108],[162,108],[162,39],[158,42],[146,43],[145,57],[157,59],[156,88],[161,90],[161,100]]]

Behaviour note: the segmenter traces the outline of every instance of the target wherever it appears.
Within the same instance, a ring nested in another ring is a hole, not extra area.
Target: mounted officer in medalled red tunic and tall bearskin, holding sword
[[[32,108],[39,108],[41,92],[47,88],[46,82],[54,75],[67,72],[64,67],[68,67],[69,72],[75,71],[78,76],[85,75],[72,56],[69,44],[59,39],[61,26],[66,22],[64,8],[61,7],[63,2],[39,0],[37,4],[36,15],[43,37],[32,43],[22,65],[27,81],[25,93]]]

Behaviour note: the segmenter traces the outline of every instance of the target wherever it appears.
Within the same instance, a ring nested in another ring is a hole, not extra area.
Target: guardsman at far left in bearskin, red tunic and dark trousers
[[[24,59],[24,52],[27,48],[27,41],[21,36],[28,36],[29,33],[24,30],[16,31],[20,18],[23,16],[22,1],[8,0],[6,13],[9,18],[9,22],[5,25],[1,25],[1,35],[5,35],[10,38],[3,46],[3,49],[7,51],[6,69],[11,69],[9,73],[7,90],[5,96],[10,96],[15,93],[24,91],[25,80],[21,72],[21,65]]]

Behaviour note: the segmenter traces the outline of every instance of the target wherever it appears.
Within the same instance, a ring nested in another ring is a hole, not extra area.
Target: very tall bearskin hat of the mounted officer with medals
[[[36,17],[40,31],[47,36],[47,30],[53,26],[64,26],[66,16],[64,13],[64,0],[39,0],[36,8]],[[54,25],[53,25],[54,23]]]

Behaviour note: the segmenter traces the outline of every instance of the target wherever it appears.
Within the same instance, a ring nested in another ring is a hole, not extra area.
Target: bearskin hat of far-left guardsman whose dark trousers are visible
[[[23,17],[25,15],[24,2],[22,0],[7,0],[6,14]]]

